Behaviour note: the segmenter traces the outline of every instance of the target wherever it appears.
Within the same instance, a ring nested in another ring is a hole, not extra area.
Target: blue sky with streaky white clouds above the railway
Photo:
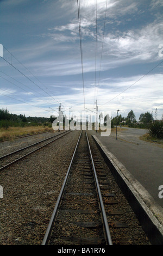
[[[162,13],[162,0],[0,0],[0,108],[50,117],[97,101],[161,119]]]

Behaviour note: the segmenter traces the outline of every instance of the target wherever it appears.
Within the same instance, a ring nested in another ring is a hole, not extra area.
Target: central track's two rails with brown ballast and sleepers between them
[[[42,245],[85,244],[112,240],[89,139],[81,132]]]

